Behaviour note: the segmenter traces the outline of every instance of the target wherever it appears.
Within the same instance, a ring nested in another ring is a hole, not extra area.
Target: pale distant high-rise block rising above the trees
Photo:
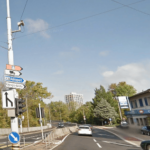
[[[75,102],[75,107],[76,109],[78,109],[83,105],[83,94],[71,92],[69,95],[65,95],[65,101],[68,105],[70,104],[70,102]]]

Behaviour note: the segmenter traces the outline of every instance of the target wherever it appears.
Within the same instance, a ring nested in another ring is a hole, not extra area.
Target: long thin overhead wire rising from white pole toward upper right
[[[134,2],[134,3],[130,3],[130,4],[125,5],[125,6],[123,5],[121,7],[113,8],[113,9],[110,9],[110,10],[107,10],[107,11],[104,11],[104,12],[101,12],[101,13],[98,13],[98,14],[94,14],[94,15],[91,15],[91,16],[87,16],[87,17],[84,17],[84,18],[77,19],[77,20],[73,20],[73,21],[70,21],[70,22],[67,22],[67,23],[63,23],[63,24],[60,24],[60,25],[57,25],[57,26],[54,26],[54,27],[50,27],[50,28],[47,28],[47,29],[44,29],[44,30],[39,30],[37,32],[33,32],[33,33],[25,34],[25,35],[22,35],[22,36],[18,36],[18,37],[14,38],[14,39],[22,38],[22,37],[29,36],[29,35],[32,35],[32,34],[35,34],[35,33],[43,32],[43,31],[46,31],[46,30],[50,30],[50,29],[53,29],[53,28],[58,28],[58,27],[61,27],[61,26],[65,26],[65,25],[74,23],[74,22],[79,22],[79,21],[82,21],[82,20],[86,20],[86,19],[89,19],[89,18],[92,18],[92,17],[95,17],[95,16],[99,16],[99,15],[102,15],[102,14],[105,14],[105,13],[108,13],[108,12],[111,12],[111,11],[123,8],[123,7],[127,7],[127,6],[130,6],[130,5],[134,5],[134,4],[140,3],[140,2],[143,2],[143,1],[144,0],[137,1],[137,2]]]

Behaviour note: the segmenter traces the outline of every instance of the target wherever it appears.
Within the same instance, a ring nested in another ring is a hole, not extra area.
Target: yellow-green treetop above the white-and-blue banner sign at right
[[[127,84],[126,82],[119,82],[118,84],[112,83],[109,85],[108,91],[112,92],[113,96],[132,96],[136,94],[136,89],[132,86]],[[113,91],[116,92],[114,95]]]

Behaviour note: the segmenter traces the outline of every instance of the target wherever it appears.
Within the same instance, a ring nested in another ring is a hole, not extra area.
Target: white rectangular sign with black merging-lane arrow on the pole
[[[15,96],[14,91],[2,91],[3,108],[15,108]]]

